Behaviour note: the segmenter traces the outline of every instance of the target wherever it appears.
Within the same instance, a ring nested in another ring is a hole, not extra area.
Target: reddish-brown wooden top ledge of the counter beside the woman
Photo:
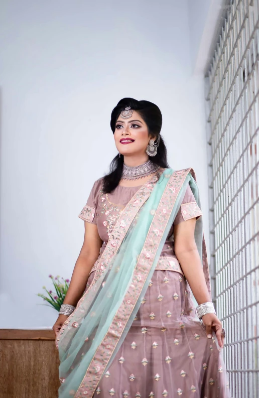
[[[55,333],[51,329],[0,329],[0,340],[55,340]]]

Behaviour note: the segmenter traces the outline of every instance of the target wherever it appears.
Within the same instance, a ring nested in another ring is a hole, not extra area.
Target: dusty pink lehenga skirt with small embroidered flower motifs
[[[93,277],[94,272],[88,284]],[[139,312],[93,396],[229,397],[219,347],[195,317],[181,274],[154,272]]]

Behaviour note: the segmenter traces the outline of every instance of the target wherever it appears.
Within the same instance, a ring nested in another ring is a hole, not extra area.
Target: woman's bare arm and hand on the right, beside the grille
[[[174,249],[181,264],[184,276],[187,279],[192,293],[200,305],[211,301],[202,270],[199,252],[194,239],[196,218],[174,225]],[[223,347],[224,337],[221,334],[222,325],[215,314],[206,314],[202,317],[208,338],[212,337],[211,330],[217,336],[218,344]]]

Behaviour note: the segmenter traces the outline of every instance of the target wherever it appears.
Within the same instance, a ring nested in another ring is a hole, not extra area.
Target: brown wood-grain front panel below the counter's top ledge
[[[58,397],[58,350],[38,338],[0,340],[0,398]]]

